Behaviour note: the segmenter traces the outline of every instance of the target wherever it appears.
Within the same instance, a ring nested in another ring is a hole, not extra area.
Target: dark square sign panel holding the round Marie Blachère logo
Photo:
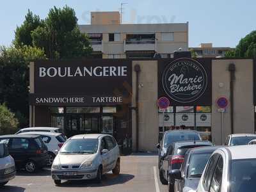
[[[211,105],[211,60],[159,61],[159,97],[174,106]]]

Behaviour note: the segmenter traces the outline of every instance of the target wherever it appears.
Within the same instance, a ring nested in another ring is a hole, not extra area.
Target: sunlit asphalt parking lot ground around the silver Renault
[[[121,157],[121,172],[118,176],[104,175],[102,184],[93,181],[63,182],[55,186],[51,179],[50,168],[29,174],[17,172],[15,179],[8,182],[1,191],[167,191],[159,182],[157,155],[133,154]]]

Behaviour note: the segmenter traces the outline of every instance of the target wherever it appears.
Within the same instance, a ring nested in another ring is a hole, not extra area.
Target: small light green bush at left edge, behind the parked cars
[[[13,134],[19,122],[5,104],[0,105],[0,134]]]

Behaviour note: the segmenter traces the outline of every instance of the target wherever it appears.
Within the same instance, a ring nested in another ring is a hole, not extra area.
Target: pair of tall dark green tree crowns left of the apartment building
[[[17,28],[15,34],[14,42],[21,42],[18,45],[40,47],[50,59],[87,57],[92,53],[87,36],[79,31],[74,9],[68,6],[62,9],[54,6],[45,20],[40,20],[29,11],[24,24]]]

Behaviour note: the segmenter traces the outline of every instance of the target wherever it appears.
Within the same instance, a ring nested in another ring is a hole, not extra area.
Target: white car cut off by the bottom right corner
[[[219,148],[212,154],[197,192],[255,192],[256,146]]]

